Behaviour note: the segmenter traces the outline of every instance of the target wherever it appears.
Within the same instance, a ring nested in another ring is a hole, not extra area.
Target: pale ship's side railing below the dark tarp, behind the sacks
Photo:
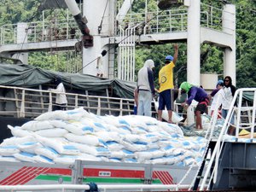
[[[36,118],[52,111],[54,90],[36,90],[0,85],[0,115],[17,118]],[[126,115],[133,113],[133,99],[111,96],[91,96],[89,94],[65,93],[67,109],[84,108],[97,115]]]

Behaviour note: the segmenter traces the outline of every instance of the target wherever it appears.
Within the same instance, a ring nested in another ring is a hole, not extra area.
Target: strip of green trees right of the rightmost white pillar
[[[236,84],[256,87],[256,2],[236,3]]]

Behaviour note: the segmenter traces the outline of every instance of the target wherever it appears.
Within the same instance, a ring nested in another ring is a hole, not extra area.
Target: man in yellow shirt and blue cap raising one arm
[[[172,55],[166,56],[166,65],[160,69],[159,72],[159,84],[160,84],[160,96],[159,96],[159,108],[158,119],[162,120],[162,112],[167,109],[168,111],[168,123],[172,123],[172,89],[173,85],[173,68],[177,61],[177,44],[173,46],[175,52]]]

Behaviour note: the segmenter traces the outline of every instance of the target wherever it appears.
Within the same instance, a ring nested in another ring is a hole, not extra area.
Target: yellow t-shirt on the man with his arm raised
[[[170,62],[166,66],[162,67],[159,72],[159,84],[160,92],[164,90],[170,90],[174,88],[173,85],[173,67],[175,67],[173,62]]]

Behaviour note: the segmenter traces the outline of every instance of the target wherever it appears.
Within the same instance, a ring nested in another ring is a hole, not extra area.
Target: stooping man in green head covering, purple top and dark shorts
[[[183,82],[180,85],[181,92],[186,92],[188,94],[188,99],[181,105],[183,108],[189,108],[189,105],[193,100],[198,102],[195,108],[195,129],[202,130],[201,125],[201,114],[207,113],[207,106],[209,105],[209,99],[206,90],[201,87],[196,87],[188,82]]]

